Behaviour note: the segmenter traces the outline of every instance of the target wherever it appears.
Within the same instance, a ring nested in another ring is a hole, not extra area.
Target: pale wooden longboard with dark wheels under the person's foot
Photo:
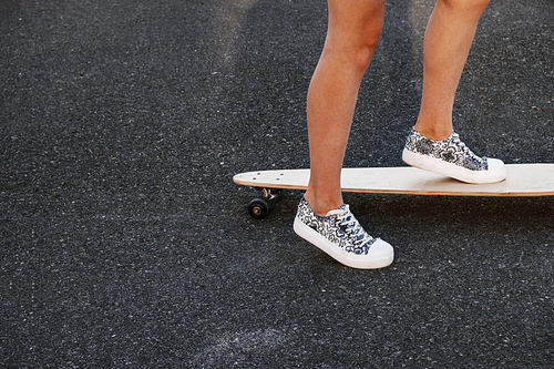
[[[441,196],[554,196],[554,164],[506,164],[505,181],[468,184],[411,166],[343,168],[342,192]],[[309,170],[258,171],[237,174],[236,184],[263,191],[248,206],[253,217],[269,212],[267,201],[280,189],[306,189]]]

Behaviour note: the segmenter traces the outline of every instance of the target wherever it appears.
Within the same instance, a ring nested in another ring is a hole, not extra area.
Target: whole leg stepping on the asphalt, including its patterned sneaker
[[[361,79],[382,29],[384,0],[328,0],[324,52],[308,91],[310,181],[295,232],[338,262],[372,269],[392,263],[392,246],[373,238],[342,202],[340,172]]]

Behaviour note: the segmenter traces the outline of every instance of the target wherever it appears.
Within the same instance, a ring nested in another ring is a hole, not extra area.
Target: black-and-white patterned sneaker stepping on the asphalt
[[[368,235],[346,204],[320,216],[302,197],[294,228],[297,235],[352,268],[382,268],[394,258],[392,246]]]

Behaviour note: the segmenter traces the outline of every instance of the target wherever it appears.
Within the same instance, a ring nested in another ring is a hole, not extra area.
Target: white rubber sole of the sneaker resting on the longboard
[[[407,148],[402,152],[402,160],[406,164],[419,167],[420,170],[442,174],[466,183],[496,183],[506,178],[504,163],[497,158],[488,158],[488,171],[470,171],[459,165],[441,161],[440,158],[411,152]]]

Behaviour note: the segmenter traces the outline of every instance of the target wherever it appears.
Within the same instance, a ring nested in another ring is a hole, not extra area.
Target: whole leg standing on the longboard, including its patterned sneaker
[[[402,153],[406,163],[469,183],[506,176],[504,163],[480,157],[452,129],[452,107],[481,13],[489,0],[439,0],[423,44],[420,114]]]

